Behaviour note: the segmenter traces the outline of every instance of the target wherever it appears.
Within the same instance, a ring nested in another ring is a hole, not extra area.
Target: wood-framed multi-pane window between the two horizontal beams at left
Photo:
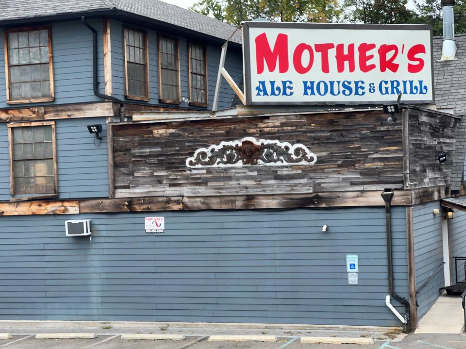
[[[57,193],[55,123],[8,124],[8,136],[11,195]]]

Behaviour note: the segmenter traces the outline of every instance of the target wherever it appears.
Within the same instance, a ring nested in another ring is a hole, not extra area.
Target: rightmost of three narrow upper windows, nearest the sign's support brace
[[[207,59],[205,47],[189,44],[189,103],[206,107],[207,100]]]

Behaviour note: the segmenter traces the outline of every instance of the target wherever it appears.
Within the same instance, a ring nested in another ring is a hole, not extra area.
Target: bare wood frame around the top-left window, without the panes
[[[8,55],[8,34],[29,32],[33,30],[44,30],[47,29],[49,32],[49,76],[50,76],[50,97],[31,98],[29,100],[12,100],[10,92],[10,66],[9,66],[9,55]],[[40,103],[40,102],[52,102],[55,100],[55,86],[53,78],[53,53],[52,53],[52,30],[50,25],[35,26],[35,27],[23,27],[23,28],[11,28],[3,31],[3,50],[5,51],[5,84],[6,84],[6,103],[7,104],[20,104],[20,103]]]

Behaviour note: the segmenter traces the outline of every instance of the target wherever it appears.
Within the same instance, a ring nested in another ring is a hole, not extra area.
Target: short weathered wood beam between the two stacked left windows
[[[33,108],[1,109],[0,122],[25,122],[113,115],[112,102],[77,103]]]

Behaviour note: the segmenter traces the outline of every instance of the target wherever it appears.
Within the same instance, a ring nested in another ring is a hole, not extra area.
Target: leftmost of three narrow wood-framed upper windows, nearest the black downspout
[[[124,29],[126,98],[149,100],[147,34]]]

